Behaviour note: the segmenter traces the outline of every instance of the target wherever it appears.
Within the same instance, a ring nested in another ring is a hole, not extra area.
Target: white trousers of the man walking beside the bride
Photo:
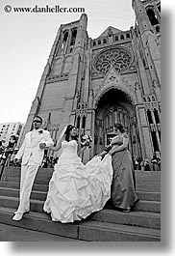
[[[30,195],[34,180],[38,172],[38,165],[22,165],[20,178],[20,201],[16,213],[30,211]]]

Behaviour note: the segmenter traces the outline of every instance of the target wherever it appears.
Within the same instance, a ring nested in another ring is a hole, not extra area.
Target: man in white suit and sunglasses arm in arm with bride
[[[14,163],[22,158],[20,179],[20,202],[13,220],[19,221],[30,211],[30,195],[38,167],[42,162],[44,149],[54,145],[49,131],[41,129],[42,118],[36,116],[33,130],[26,133],[23,144],[14,157]]]

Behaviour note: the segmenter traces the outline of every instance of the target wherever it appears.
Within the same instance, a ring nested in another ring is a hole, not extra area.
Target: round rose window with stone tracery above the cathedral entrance
[[[131,53],[123,48],[114,48],[100,53],[94,62],[97,71],[106,73],[113,67],[116,71],[125,71],[132,62]]]

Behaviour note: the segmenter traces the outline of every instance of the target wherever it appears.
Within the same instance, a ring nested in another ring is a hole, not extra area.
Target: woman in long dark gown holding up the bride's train
[[[132,156],[128,151],[128,134],[121,124],[115,125],[114,128],[116,136],[112,138],[110,151],[107,149],[112,156],[112,205],[124,213],[129,213],[138,201],[135,170]],[[101,156],[103,155],[104,152]]]

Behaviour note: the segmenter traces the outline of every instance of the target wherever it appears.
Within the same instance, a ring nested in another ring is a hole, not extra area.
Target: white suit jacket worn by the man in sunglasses
[[[46,147],[54,146],[50,132],[44,129],[38,129],[38,136],[32,142],[32,131],[26,133],[22,146],[17,152],[15,158],[22,158],[22,165],[27,164],[29,160],[36,165],[40,165],[44,156],[44,149],[39,148],[40,143],[45,143]]]

